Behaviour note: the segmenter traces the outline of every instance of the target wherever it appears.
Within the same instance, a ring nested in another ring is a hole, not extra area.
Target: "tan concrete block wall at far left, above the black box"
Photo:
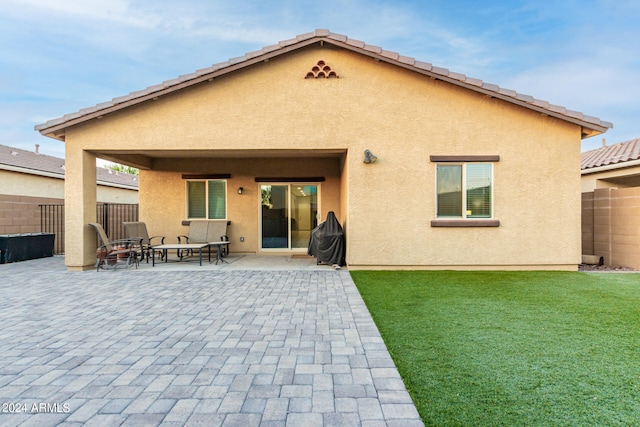
[[[0,234],[40,232],[39,205],[62,203],[62,199],[0,194]]]

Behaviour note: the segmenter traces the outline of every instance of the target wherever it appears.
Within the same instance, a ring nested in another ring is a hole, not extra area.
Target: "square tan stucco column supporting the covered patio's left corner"
[[[67,142],[65,161],[65,264],[87,270],[96,262],[96,156]]]

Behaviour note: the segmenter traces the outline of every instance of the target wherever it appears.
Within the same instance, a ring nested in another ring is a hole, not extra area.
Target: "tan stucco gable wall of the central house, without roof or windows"
[[[318,60],[340,78],[304,79]],[[81,149],[179,150],[180,156],[188,150],[295,149],[300,159],[305,150],[344,150],[344,164],[322,173],[331,180],[322,184],[321,209],[322,219],[334,210],[345,224],[347,262],[354,269],[575,269],[580,263],[579,126],[346,50],[311,47],[287,54],[70,128],[66,135],[72,157],[67,170],[77,166]],[[378,157],[376,163],[362,162],[365,149]],[[430,226],[430,155],[500,156],[494,166],[499,227]],[[141,218],[152,234],[182,230],[180,173],[196,170],[230,172],[230,189],[249,189],[242,196],[229,193],[230,230],[234,239],[236,233],[251,236],[251,228],[257,233],[253,179],[264,164],[145,162],[138,165],[153,171],[140,176]],[[282,168],[299,163],[281,159],[265,173],[295,176]],[[71,190],[75,194],[81,186]],[[233,250],[256,250],[256,242],[236,242]]]

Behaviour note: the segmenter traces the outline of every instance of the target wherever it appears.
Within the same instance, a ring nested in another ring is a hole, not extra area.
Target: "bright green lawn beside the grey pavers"
[[[640,274],[351,275],[426,425],[640,425]]]

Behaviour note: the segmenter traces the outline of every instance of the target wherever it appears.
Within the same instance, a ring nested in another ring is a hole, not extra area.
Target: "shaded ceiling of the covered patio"
[[[238,158],[338,158],[347,150],[335,149],[286,149],[286,150],[95,150],[96,157],[139,169],[153,169],[158,159],[238,159]]]

